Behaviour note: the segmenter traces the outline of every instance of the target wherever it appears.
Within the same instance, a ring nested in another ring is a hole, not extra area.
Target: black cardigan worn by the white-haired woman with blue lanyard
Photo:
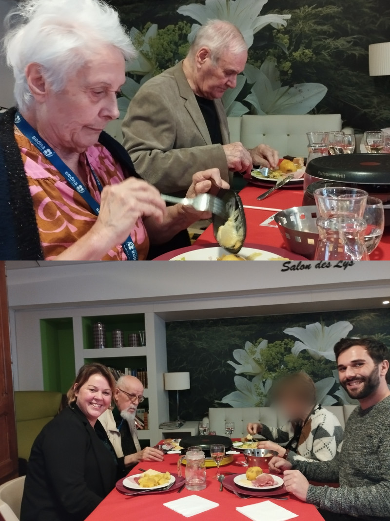
[[[42,261],[33,201],[14,136],[16,110],[14,107],[0,114],[0,261]],[[139,178],[118,141],[102,132],[99,143],[120,162],[126,177]]]

